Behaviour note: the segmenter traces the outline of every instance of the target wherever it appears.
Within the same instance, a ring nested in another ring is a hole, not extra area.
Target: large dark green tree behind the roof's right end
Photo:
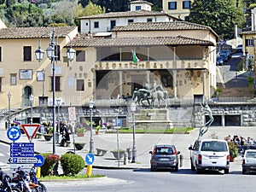
[[[234,26],[242,27],[245,23],[242,7],[241,0],[195,0],[189,21],[211,26],[220,38],[234,38]]]

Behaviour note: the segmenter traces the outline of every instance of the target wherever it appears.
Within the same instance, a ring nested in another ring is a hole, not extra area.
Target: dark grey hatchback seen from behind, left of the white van
[[[173,169],[178,171],[178,154],[174,145],[155,145],[154,150],[149,151],[151,155],[151,172],[156,169]]]

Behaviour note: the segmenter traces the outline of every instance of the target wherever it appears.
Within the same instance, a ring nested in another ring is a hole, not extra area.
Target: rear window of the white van
[[[228,151],[227,145],[224,142],[208,141],[201,144],[201,151],[216,151],[224,152]]]

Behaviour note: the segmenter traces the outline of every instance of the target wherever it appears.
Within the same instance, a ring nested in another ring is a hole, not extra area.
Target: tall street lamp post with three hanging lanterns
[[[69,38],[69,37],[68,37]],[[57,43],[55,42],[55,29],[49,34],[49,47],[46,49],[47,57],[52,63],[52,107],[53,107],[53,154],[55,154],[55,60],[58,58]],[[76,51],[72,49],[71,39],[70,47],[67,49],[67,59],[73,61]],[[44,50],[41,49],[41,38],[39,39],[38,49],[35,51],[38,61],[42,61],[44,57]]]

